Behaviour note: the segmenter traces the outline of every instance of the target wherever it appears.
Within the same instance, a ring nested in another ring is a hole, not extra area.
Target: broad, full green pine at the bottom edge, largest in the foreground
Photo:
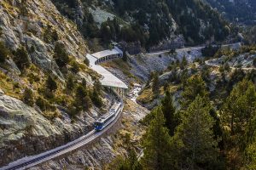
[[[182,124],[177,127],[177,139],[183,142],[182,168],[216,169],[218,166],[218,142],[212,132],[213,120],[209,114],[211,105],[199,95],[184,112]]]

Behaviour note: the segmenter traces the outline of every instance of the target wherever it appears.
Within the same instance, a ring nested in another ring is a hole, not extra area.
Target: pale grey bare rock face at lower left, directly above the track
[[[96,111],[83,113],[72,123],[65,113],[53,122],[19,99],[0,90],[0,166],[34,155],[79,138],[97,117]],[[86,122],[84,123],[84,117]],[[57,141],[57,142],[56,142]]]

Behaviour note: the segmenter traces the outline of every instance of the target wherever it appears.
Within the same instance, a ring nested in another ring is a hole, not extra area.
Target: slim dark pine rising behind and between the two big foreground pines
[[[169,134],[173,136],[175,128],[178,124],[178,118],[175,114],[176,109],[173,106],[172,95],[169,91],[166,91],[166,96],[164,99],[162,99],[161,105],[162,112],[166,118],[165,126],[169,129]]]

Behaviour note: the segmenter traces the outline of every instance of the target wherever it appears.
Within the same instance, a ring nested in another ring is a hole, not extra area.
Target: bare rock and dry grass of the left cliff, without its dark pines
[[[71,66],[63,71],[56,64],[56,43],[63,45],[73,62],[83,65],[88,48],[72,21],[49,0],[2,0],[0,42],[9,50],[9,56],[0,64],[0,166],[65,144],[91,128],[99,115],[95,107],[72,118],[59,105],[61,102],[51,102],[57,114],[49,118],[37,105],[23,103],[26,88],[32,89],[34,98],[41,95],[47,75],[56,77],[61,90],[65,88]],[[26,71],[21,71],[14,61],[17,48],[27,51],[31,66]],[[81,68],[73,77],[84,78],[91,86],[95,74],[86,65]],[[57,93],[62,95],[61,91]]]

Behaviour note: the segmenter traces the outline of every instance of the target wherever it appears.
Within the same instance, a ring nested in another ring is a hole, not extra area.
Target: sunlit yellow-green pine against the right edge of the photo
[[[230,127],[231,135],[244,133],[244,127],[255,115],[255,104],[256,89],[253,82],[239,82],[226,100],[222,114],[224,125]]]

